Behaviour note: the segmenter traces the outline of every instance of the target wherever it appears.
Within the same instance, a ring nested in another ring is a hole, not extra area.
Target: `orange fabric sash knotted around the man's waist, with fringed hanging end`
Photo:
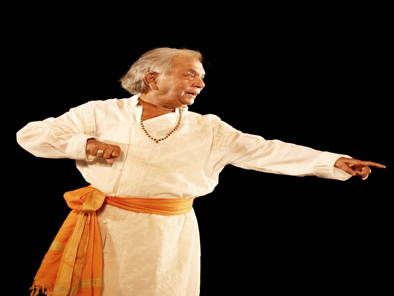
[[[106,196],[89,185],[64,194],[71,208],[35,277],[31,296],[99,296],[102,243],[96,211],[108,203],[125,210],[157,215],[181,215],[192,198],[129,198]]]

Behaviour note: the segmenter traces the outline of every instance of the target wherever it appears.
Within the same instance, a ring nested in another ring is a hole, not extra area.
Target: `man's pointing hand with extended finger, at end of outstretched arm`
[[[384,169],[386,166],[373,161],[362,161],[354,158],[339,157],[335,163],[334,167],[341,169],[342,171],[348,173],[349,175],[355,177],[361,177],[362,180],[368,178],[368,175],[372,172],[369,168],[374,166],[377,168]]]

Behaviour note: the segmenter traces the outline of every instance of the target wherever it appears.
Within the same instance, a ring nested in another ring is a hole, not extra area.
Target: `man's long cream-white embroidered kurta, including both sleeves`
[[[223,168],[347,180],[333,164],[342,154],[265,140],[242,133],[216,115],[182,109],[179,128],[156,144],[142,131],[138,95],[91,101],[57,118],[28,123],[19,145],[38,157],[75,159],[93,187],[111,196],[195,198],[213,191]],[[164,137],[179,112],[144,121]],[[116,144],[122,154],[109,165],[85,151],[86,140]],[[76,188],[75,188],[76,189]],[[104,204],[98,211],[103,240],[103,296],[198,296],[200,241],[192,210],[185,215],[134,213]]]

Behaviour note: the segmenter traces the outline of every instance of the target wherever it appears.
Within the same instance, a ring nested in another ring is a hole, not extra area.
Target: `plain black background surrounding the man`
[[[388,282],[382,269],[392,246],[392,68],[384,19],[269,20],[70,26],[53,15],[24,22],[7,44],[12,67],[4,99],[13,131],[87,101],[130,97],[118,79],[148,49],[197,49],[207,61],[206,86],[190,111],[214,113],[265,139],[388,166],[372,168],[366,181],[346,182],[226,167],[215,191],[194,203],[201,296],[376,293]],[[14,177],[6,179],[11,196],[4,206],[11,204],[6,211],[15,217],[12,291],[28,295],[69,212],[63,193],[86,183],[72,160],[37,158],[15,134],[11,141]]]

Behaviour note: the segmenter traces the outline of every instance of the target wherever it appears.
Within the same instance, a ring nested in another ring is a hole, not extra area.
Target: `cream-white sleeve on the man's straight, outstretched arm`
[[[242,133],[224,124],[230,130],[228,151],[230,164],[250,170],[291,176],[317,176],[345,181],[351,175],[334,168],[335,161],[348,155],[320,151],[313,148],[265,140],[258,135]]]

